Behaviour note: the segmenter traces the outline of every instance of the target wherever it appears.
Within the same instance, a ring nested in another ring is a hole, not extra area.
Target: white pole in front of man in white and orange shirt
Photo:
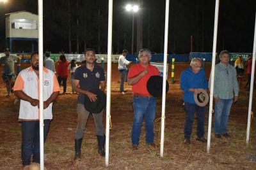
[[[44,169],[44,98],[43,98],[43,0],[38,1],[38,54],[39,54],[39,106],[40,106],[40,169]]]

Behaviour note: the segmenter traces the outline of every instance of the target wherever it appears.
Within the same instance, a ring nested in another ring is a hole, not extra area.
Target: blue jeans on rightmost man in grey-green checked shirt
[[[228,116],[232,103],[233,99],[220,99],[220,101],[215,102],[214,132],[216,134],[227,133]]]

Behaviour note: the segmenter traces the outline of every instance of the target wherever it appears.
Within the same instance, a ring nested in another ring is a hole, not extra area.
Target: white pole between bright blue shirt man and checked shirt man
[[[214,74],[215,74],[215,60],[216,60],[216,45],[218,33],[218,15],[219,15],[220,1],[216,0],[215,15],[214,15],[214,34],[212,47],[212,69],[211,69],[211,89],[210,89],[210,106],[209,106],[209,122],[208,122],[208,136],[207,136],[207,153],[210,152],[211,145],[211,128],[212,128],[212,104],[213,104],[213,89],[214,89]]]

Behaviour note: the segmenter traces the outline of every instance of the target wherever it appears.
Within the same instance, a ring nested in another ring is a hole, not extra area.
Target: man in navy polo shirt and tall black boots
[[[80,67],[77,67],[74,73],[74,90],[79,93],[77,98],[77,129],[75,134],[75,160],[81,159],[81,144],[83,141],[84,130],[90,112],[84,108],[84,97],[88,96],[90,101],[96,101],[97,95],[90,92],[92,89],[99,89],[103,92],[106,89],[105,73],[102,67],[95,65],[95,50],[87,48],[84,51],[86,62]],[[105,156],[104,144],[104,127],[102,124],[103,110],[100,113],[92,113],[96,133],[98,139],[98,152]]]

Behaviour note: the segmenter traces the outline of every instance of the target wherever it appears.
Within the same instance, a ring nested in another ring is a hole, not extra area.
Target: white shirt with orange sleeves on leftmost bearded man
[[[39,100],[39,79],[32,67],[20,71],[13,90],[22,90],[26,95]],[[44,67],[44,101],[51,97],[53,92],[60,91],[56,75]],[[20,120],[38,120],[40,117],[38,106],[32,106],[28,101],[20,100]],[[52,119],[52,103],[44,110],[44,119]]]

